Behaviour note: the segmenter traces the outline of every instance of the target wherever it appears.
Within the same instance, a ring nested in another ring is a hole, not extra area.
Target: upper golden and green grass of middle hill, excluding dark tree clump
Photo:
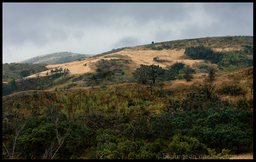
[[[224,61],[229,62],[241,62],[238,57],[245,57],[246,59],[253,61],[253,37],[212,37],[212,38],[198,38],[198,39],[187,39],[187,40],[175,40],[162,43],[155,43],[143,46],[128,47],[112,50],[103,54],[95,55],[91,58],[85,58],[78,61],[60,63],[54,65],[48,65],[48,69],[54,68],[68,68],[70,74],[83,74],[87,72],[95,72],[95,62],[100,59],[114,59],[123,58],[132,60],[130,63],[130,68],[138,68],[140,64],[145,65],[159,65],[163,68],[173,65],[175,62],[183,62],[185,64],[191,65],[193,68],[199,69],[202,66],[212,66],[217,67],[217,63],[210,63],[200,59],[193,59],[184,54],[185,49],[191,46],[204,45],[211,48],[215,52],[221,52],[225,56]],[[161,60],[166,60],[165,62],[155,62],[154,57],[158,56]],[[231,58],[232,57],[232,58]],[[232,60],[233,59],[233,60]],[[84,66],[86,63],[87,66]],[[223,69],[218,69],[219,73],[234,71],[246,67],[252,66],[245,65],[235,65],[224,66]],[[199,71],[198,71],[199,72]],[[206,72],[203,73],[205,74]],[[39,76],[45,76],[47,71],[39,73]],[[48,71],[49,73],[49,71]],[[199,74],[200,75],[200,74]],[[36,77],[32,75],[29,77]]]

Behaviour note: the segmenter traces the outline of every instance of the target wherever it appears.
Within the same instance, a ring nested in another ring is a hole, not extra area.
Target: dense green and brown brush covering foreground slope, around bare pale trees
[[[152,97],[133,85],[6,96],[3,143],[11,148],[18,127],[15,112],[20,111],[19,120],[27,123],[17,138],[15,157],[42,158],[57,140],[49,113],[53,107],[60,113],[59,135],[74,121],[55,158],[210,158],[252,149],[253,102],[207,100],[199,93],[168,98]],[[9,158],[4,147],[3,158]]]

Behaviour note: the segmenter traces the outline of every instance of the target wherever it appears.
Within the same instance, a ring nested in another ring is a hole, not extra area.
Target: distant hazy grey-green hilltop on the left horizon
[[[91,57],[94,55],[85,55],[85,54],[75,54],[72,52],[55,52],[52,54],[36,56],[29,58],[27,60],[18,61],[16,63],[47,63],[47,64],[57,64],[70,62],[79,58]]]

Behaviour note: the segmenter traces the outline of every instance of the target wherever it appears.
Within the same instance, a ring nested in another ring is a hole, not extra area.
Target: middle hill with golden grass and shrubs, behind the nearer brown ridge
[[[155,60],[156,57],[159,60]],[[15,91],[132,83],[135,82],[132,72],[141,64],[159,65],[170,73],[170,68],[176,63],[181,63],[182,66],[190,65],[194,69],[191,75],[195,78],[207,75],[210,68],[214,68],[218,74],[223,74],[251,67],[253,37],[185,39],[115,49],[89,58],[47,65],[48,70],[27,76],[25,79],[28,80],[22,82],[22,85],[27,83],[27,86]],[[68,73],[66,71],[58,74],[58,69],[63,72],[66,69]],[[183,70],[179,69],[178,73],[173,77],[183,79]],[[38,77],[42,77],[44,85],[35,80]],[[170,79],[170,76],[164,78]]]

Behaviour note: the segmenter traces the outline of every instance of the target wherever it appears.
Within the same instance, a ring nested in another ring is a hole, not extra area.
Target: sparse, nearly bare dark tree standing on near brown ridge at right
[[[208,72],[208,77],[203,80],[208,100],[211,99],[212,91],[216,85],[214,84],[215,72],[215,69],[211,68],[210,71]]]

